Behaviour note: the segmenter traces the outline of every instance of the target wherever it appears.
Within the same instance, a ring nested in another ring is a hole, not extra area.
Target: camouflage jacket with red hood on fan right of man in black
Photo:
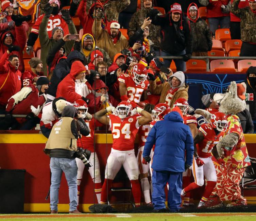
[[[197,11],[197,17],[192,19],[189,15],[190,6],[197,5],[195,3],[191,3],[188,6],[187,18],[190,22],[190,35],[192,38],[192,51],[193,52],[207,52],[211,50],[212,47],[212,35],[210,29],[205,22],[205,20],[199,17],[199,13]],[[198,9],[198,7],[197,7]]]

